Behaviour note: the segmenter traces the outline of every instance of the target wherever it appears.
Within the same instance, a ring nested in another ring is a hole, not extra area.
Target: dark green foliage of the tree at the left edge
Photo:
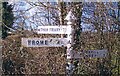
[[[8,28],[11,28],[13,25],[14,15],[13,15],[13,6],[8,5],[8,2],[3,2],[3,14],[2,14],[2,38],[8,36]]]

